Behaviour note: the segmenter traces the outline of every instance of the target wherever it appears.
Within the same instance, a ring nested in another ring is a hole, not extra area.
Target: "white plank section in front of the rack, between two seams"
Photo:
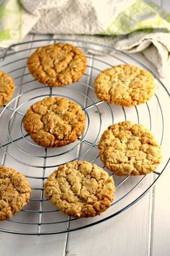
[[[148,255],[150,195],[115,218],[69,234],[66,255]]]

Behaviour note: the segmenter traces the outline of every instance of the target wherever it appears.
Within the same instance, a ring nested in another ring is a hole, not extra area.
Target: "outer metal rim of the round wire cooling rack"
[[[12,54],[7,54],[7,52],[14,46],[19,46],[19,45],[23,45],[23,44],[27,44],[27,43],[38,43],[38,42],[41,42],[41,41],[71,41],[71,42],[76,42],[76,43],[89,43],[91,45],[95,45],[95,46],[100,46],[100,47],[104,47],[104,48],[108,48],[110,51],[115,51],[119,54],[122,54],[126,57],[128,57],[128,59],[131,59],[133,61],[135,61],[136,63],[140,64],[141,67],[147,69],[149,72],[151,72],[151,74],[153,74],[153,76],[156,78],[156,80],[162,85],[162,87],[164,88],[164,90],[166,90],[166,93],[169,95],[170,97],[170,93],[169,93],[169,90],[165,87],[165,85],[161,82],[161,80],[159,80],[159,78],[156,76],[156,74],[154,74],[151,69],[148,69],[148,67],[146,67],[144,64],[142,64],[140,61],[138,61],[137,59],[133,58],[132,56],[129,56],[128,54],[126,54],[125,52],[122,52],[122,51],[119,51],[117,50],[116,48],[114,47],[109,47],[109,46],[104,46],[102,44],[99,44],[99,43],[93,43],[93,42],[90,42],[90,41],[85,41],[85,40],[71,40],[69,38],[64,38],[64,39],[57,39],[57,38],[51,38],[51,39],[41,39],[41,40],[30,40],[30,41],[26,41],[26,42],[23,42],[23,43],[16,43],[16,44],[13,44],[12,46],[9,46],[8,48],[5,49],[4,51],[4,56],[1,56],[1,59],[0,61],[3,61],[5,59],[6,56],[10,56]],[[17,52],[20,52],[20,51],[16,51],[14,52],[13,54],[16,54]],[[80,230],[80,229],[85,229],[85,228],[88,228],[90,226],[94,226],[96,225],[97,223],[102,223],[103,221],[107,221],[109,220],[109,218],[112,218],[114,216],[117,216],[118,214],[122,213],[124,210],[130,208],[130,206],[134,205],[136,202],[138,202],[138,200],[140,200],[140,198],[142,198],[144,195],[146,195],[146,193],[156,184],[158,178],[161,176],[161,174],[163,173],[163,171],[165,170],[166,166],[168,166],[169,164],[169,161],[170,161],[170,158],[169,160],[166,162],[166,165],[164,166],[163,170],[159,173],[158,177],[154,180],[154,182],[148,187],[148,189],[146,189],[140,196],[138,196],[135,200],[133,200],[133,202],[130,202],[130,204],[126,205],[124,208],[122,208],[121,210],[118,210],[116,213],[110,215],[110,216],[107,216],[106,218],[103,218],[99,221],[96,221],[96,222],[93,222],[93,223],[89,223],[85,226],[80,226],[78,228],[73,228],[73,229],[68,229],[68,230],[65,230],[65,231],[50,231],[50,232],[40,232],[40,233],[37,233],[37,232],[23,232],[23,231],[10,231],[10,230],[7,230],[7,229],[0,229],[0,231],[3,231],[3,232],[6,232],[6,233],[10,233],[10,234],[25,234],[25,235],[48,235],[48,234],[63,234],[63,233],[68,233],[68,232],[71,232],[71,231],[77,231],[77,230]]]

